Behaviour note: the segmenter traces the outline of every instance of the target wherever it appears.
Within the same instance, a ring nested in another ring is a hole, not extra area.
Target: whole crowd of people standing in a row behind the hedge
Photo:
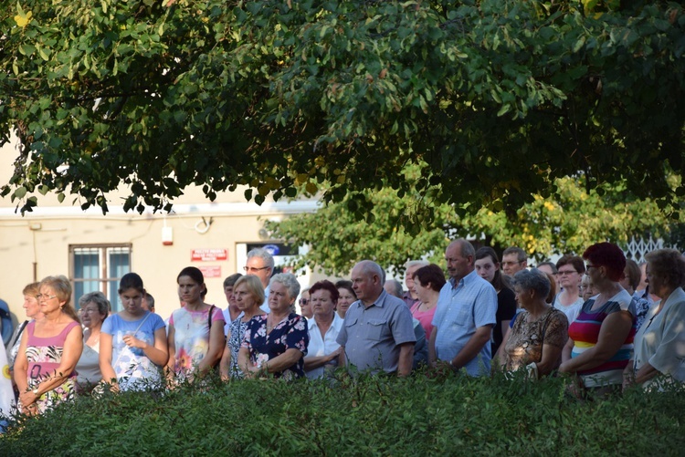
[[[579,398],[661,389],[685,381],[685,258],[660,249],[646,259],[641,269],[598,243],[532,268],[521,248],[500,262],[458,239],[445,250],[448,276],[407,262],[407,290],[363,260],[350,280],[300,292],[295,275],[274,275],[273,257],[255,249],[246,275],[224,281],[223,310],[205,303],[202,272],[184,268],[182,306],[167,322],[135,273],[121,277],[115,314],[100,292],[79,297],[77,312],[68,278],[48,276],[24,288],[27,319],[7,348],[16,405],[39,414],[108,386],[174,389],[214,370],[224,380],[321,379],[338,367],[405,377],[424,366],[567,376]]]

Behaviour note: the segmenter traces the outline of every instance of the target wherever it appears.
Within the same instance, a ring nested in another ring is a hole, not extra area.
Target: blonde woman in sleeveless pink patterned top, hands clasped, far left
[[[32,415],[74,396],[74,368],[83,350],[79,317],[70,305],[68,279],[47,276],[39,290],[38,304],[45,317],[26,325],[15,362],[19,405]]]

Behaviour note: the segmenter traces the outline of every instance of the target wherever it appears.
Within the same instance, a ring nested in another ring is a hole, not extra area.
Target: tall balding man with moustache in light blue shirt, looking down
[[[470,376],[490,373],[490,338],[497,313],[497,292],[474,268],[473,246],[465,239],[448,245],[450,279],[440,290],[428,343],[428,361],[466,369]],[[438,362],[439,361],[439,362]]]

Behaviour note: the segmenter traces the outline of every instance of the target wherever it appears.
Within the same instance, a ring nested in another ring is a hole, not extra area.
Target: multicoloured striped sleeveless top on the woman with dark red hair
[[[599,338],[599,330],[607,316],[617,311],[630,312],[633,316],[633,327],[630,328],[626,341],[618,349],[617,353],[594,369],[578,371],[578,375],[583,379],[587,388],[612,384],[621,385],[623,382],[623,369],[626,368],[627,362],[633,353],[633,338],[636,333],[635,300],[626,290],[621,290],[603,306],[593,310],[592,307],[595,305],[595,299],[596,296],[593,296],[585,302],[578,317],[568,327],[568,336],[574,340],[571,358],[578,357],[587,349],[595,347],[597,338]]]

